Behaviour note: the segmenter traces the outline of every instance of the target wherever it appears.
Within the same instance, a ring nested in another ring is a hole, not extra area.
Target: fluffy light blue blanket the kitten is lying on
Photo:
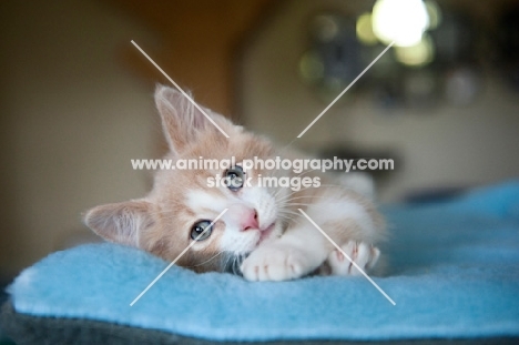
[[[248,283],[112,244],[58,252],[10,286],[20,313],[90,318],[215,341],[519,336],[519,183],[384,211],[390,275]]]

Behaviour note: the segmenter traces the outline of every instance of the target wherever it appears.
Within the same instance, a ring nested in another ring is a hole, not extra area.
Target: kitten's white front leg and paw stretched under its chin
[[[261,245],[242,264],[248,281],[287,281],[302,277],[320,266],[329,247],[312,225],[288,230],[281,239]]]

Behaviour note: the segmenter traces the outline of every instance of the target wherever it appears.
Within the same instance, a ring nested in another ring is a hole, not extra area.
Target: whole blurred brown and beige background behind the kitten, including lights
[[[519,176],[519,1],[53,0],[0,2],[0,281],[93,235],[91,206],[144,195],[131,159],[165,150],[167,81],[282,144],[389,42],[294,145],[390,158],[383,202]],[[81,270],[81,267],[79,267]]]

